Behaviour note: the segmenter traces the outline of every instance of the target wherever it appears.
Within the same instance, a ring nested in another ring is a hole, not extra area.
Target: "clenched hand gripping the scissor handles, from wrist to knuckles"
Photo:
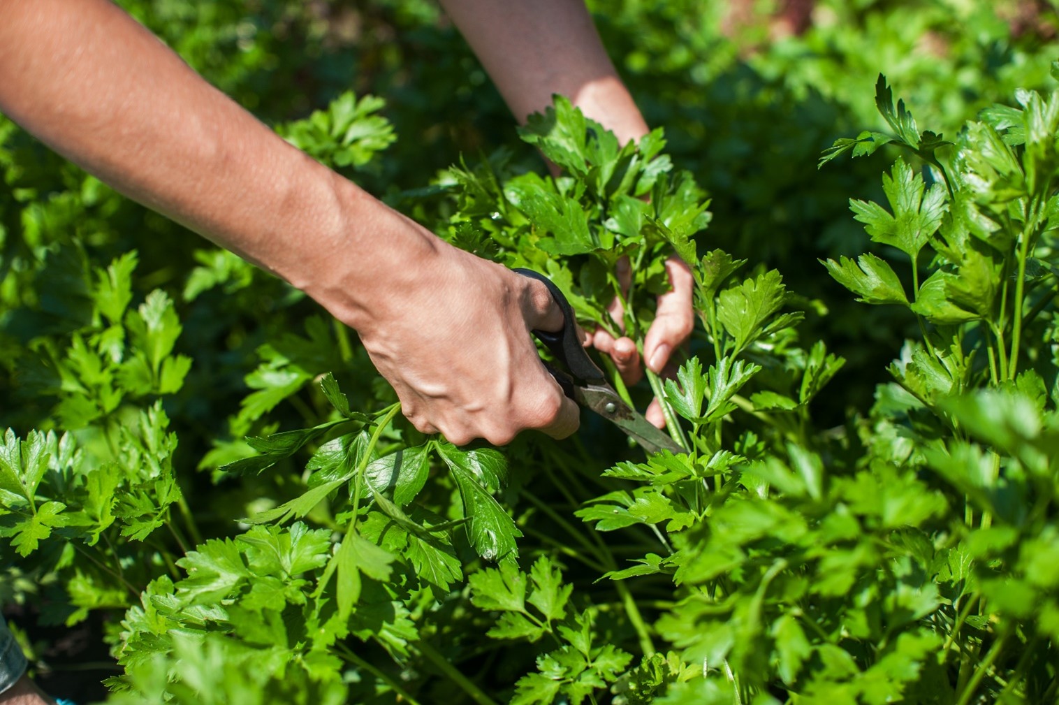
[[[503,446],[527,429],[572,434],[578,406],[544,368],[530,332],[562,327],[551,293],[540,282],[432,242],[428,256],[379,287],[388,294],[357,326],[405,416],[457,446],[474,438]]]

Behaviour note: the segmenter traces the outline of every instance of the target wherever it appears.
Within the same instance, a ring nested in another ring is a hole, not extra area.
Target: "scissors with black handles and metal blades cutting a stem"
[[[549,332],[546,330],[533,330],[537,340],[544,343],[556,362],[566,367],[568,372],[555,368],[549,363],[544,363],[548,372],[552,374],[555,381],[562,387],[562,392],[586,409],[591,409],[617,428],[622,429],[633,440],[640,444],[648,453],[658,453],[667,450],[671,453],[686,453],[672,438],[657,429],[650,421],[636,413],[622,400],[604,376],[599,367],[592,362],[592,358],[581,346],[577,336],[577,319],[570,302],[555,286],[550,278],[539,272],[530,269],[514,270],[523,276],[537,279],[548,287],[552,292],[552,299],[562,311],[562,330]]]

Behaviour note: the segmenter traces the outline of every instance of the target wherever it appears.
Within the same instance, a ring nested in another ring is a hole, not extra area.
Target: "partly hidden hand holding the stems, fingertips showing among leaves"
[[[666,260],[665,267],[672,288],[658,297],[654,322],[644,337],[643,359],[647,361],[647,368],[652,373],[670,377],[672,375],[667,374],[669,372],[667,367],[672,351],[687,342],[695,327],[695,310],[692,307],[695,278],[692,269],[677,255],[671,255]],[[616,270],[618,283],[624,290],[628,290],[632,282],[629,258],[622,257],[617,261]],[[615,299],[607,311],[624,331],[625,309],[622,301]],[[609,355],[627,384],[635,384],[643,377],[643,361],[636,349],[636,343],[631,338],[623,336],[615,339],[604,328],[597,328],[594,332],[587,333],[586,344]],[[656,427],[665,428],[665,416],[658,399],[651,401],[645,416]]]

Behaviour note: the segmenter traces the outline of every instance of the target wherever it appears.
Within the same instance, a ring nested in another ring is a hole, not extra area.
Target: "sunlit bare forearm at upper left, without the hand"
[[[123,193],[293,285],[335,288],[335,252],[358,251],[363,269],[342,272],[341,286],[362,275],[365,286],[351,293],[370,293],[388,255],[408,259],[389,250],[432,247],[109,2],[0,0],[0,110]],[[367,241],[379,233],[389,237]],[[335,306],[356,325],[354,302]]]

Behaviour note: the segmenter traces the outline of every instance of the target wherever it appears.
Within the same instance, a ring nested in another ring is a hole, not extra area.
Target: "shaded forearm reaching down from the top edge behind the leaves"
[[[442,0],[520,121],[568,96],[626,142],[647,124],[581,0]]]

